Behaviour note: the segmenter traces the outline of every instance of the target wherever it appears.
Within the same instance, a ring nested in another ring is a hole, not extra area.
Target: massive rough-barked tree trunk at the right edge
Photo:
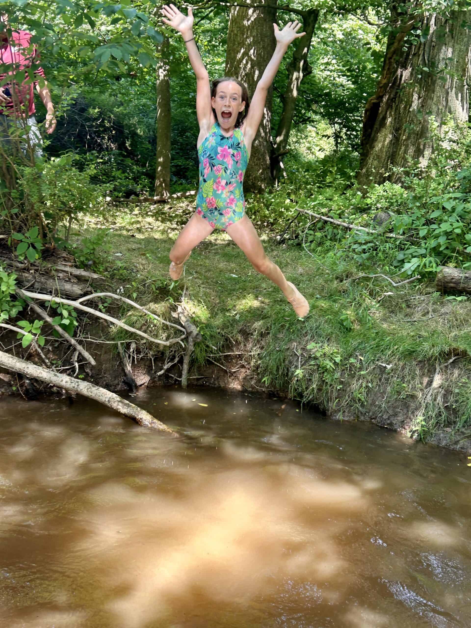
[[[360,185],[398,182],[401,173],[389,170],[411,160],[425,166],[433,151],[427,141],[431,119],[439,130],[450,114],[467,122],[471,31],[464,23],[470,18],[471,11],[425,16],[420,30],[428,30],[428,38],[406,50],[412,19],[389,38],[376,94],[364,112]]]

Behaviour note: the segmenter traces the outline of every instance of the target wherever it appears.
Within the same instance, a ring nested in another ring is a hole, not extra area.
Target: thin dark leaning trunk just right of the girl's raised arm
[[[303,31],[305,31],[306,35],[296,40],[293,58],[286,68],[288,70],[288,82],[284,90],[283,112],[279,119],[278,129],[276,129],[276,139],[274,141],[271,164],[272,173],[275,178],[278,178],[281,169],[280,158],[287,151],[301,81],[312,72],[312,68],[308,63],[308,53],[318,17],[318,9],[309,9],[306,11],[306,14],[303,16]]]

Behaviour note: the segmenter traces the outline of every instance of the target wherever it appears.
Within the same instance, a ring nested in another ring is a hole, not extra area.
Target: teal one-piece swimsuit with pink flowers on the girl
[[[198,146],[200,188],[197,214],[211,227],[227,229],[244,215],[244,174],[249,161],[241,129],[229,137],[213,124],[210,134]]]

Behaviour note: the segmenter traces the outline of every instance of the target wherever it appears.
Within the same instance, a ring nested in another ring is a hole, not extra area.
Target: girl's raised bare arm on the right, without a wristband
[[[267,67],[265,68],[262,78],[257,83],[257,87],[249,107],[249,112],[244,121],[244,138],[246,139],[246,144],[249,145],[256,136],[258,127],[262,121],[268,90],[273,83],[276,72],[278,72],[279,64],[284,57],[284,53],[288,50],[288,46],[291,41],[306,35],[306,33],[298,33],[298,30],[301,28],[301,23],[297,20],[295,22],[288,22],[282,31],[279,30],[276,24],[273,24],[273,26],[276,38],[276,48],[273,53],[273,57],[271,57]]]

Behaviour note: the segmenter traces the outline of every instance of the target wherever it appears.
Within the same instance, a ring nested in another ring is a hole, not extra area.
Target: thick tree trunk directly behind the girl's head
[[[266,0],[262,2],[265,4]],[[247,3],[261,4],[260,0],[247,0]],[[254,94],[276,46],[273,29],[275,19],[276,9],[273,8],[247,9],[236,6],[230,9],[225,74],[246,84],[250,97]],[[273,89],[270,88],[265,114],[252,144],[251,158],[244,178],[244,189],[247,192],[263,192],[273,183],[270,168],[272,94]]]

